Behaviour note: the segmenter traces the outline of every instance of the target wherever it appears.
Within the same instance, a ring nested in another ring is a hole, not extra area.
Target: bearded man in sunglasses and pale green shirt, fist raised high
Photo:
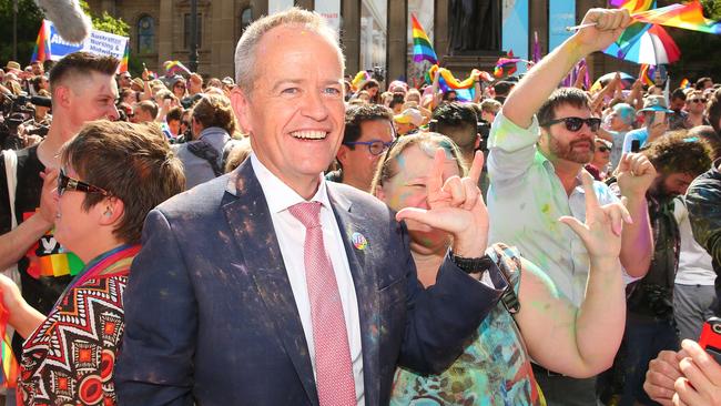
[[[583,91],[556,88],[582,57],[606,49],[630,22],[627,10],[590,9],[582,21],[590,27],[573,33],[514,88],[488,142],[489,241],[518,246],[544,270],[559,295],[576,306],[587,292],[589,252],[558,219],[586,220],[581,175],[593,158],[601,120],[591,115]],[[642,277],[651,260],[644,193],[654,177],[648,159],[630,155],[621,160],[621,194],[632,224],[623,227],[620,261],[632,277]],[[595,182],[593,190],[601,205],[618,202],[603,183]],[[571,378],[538,365],[534,369],[549,404],[596,405],[595,377]]]

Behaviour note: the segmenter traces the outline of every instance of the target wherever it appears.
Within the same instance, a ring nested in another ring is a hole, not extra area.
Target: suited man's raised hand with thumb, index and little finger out
[[[484,154],[476,152],[468,176],[450,176],[446,182],[443,181],[446,151],[439,148],[426,182],[429,209],[405,207],[396,214],[396,220],[413,220],[450,233],[456,255],[483,256],[488,244],[488,210],[478,189]]]

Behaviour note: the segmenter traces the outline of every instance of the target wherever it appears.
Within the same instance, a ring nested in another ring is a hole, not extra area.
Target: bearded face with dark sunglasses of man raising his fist
[[[562,104],[556,109],[556,119],[578,116],[588,119],[591,112],[585,108],[576,108],[570,104]],[[569,131],[563,122],[544,128],[540,139],[544,154],[551,161],[568,161],[579,164],[587,164],[593,158],[596,134],[591,132],[588,124],[578,131]]]

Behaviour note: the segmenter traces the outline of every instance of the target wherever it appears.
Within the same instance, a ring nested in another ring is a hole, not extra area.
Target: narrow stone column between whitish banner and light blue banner
[[[408,53],[408,2],[388,1],[388,38],[386,38],[386,85],[406,75],[406,54]]]

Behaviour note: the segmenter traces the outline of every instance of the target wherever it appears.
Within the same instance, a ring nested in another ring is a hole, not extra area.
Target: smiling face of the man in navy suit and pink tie
[[[257,44],[251,94],[236,88],[233,106],[253,152],[308,199],[343,141],[345,105],[337,49],[301,26],[281,26]]]

